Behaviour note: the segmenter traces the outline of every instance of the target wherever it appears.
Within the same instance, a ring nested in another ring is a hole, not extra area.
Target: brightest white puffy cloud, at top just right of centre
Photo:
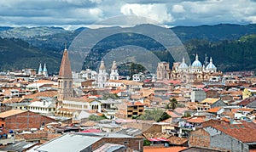
[[[125,15],[137,15],[156,20],[160,23],[172,22],[172,14],[167,12],[165,4],[137,4],[126,3],[120,8],[120,12]]]

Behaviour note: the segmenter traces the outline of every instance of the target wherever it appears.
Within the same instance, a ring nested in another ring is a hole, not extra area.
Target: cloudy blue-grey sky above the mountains
[[[1,0],[0,24],[67,29],[120,15],[168,26],[256,23],[256,0]]]

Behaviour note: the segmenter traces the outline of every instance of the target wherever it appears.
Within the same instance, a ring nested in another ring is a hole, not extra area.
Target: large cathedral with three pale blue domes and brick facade
[[[206,62],[207,63],[207,62]],[[187,65],[185,59],[182,62],[174,62],[172,70],[169,68],[169,63],[160,62],[157,67],[157,79],[158,80],[178,80],[184,83],[188,82],[206,82],[211,77],[222,76],[221,71],[217,71],[216,66],[210,59],[210,63],[202,65],[198,59],[198,55],[195,55],[195,61],[192,65]]]

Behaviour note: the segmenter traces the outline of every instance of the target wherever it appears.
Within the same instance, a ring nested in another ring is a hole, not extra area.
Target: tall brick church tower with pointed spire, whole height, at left
[[[68,99],[73,96],[73,77],[67,47],[65,46],[58,77],[58,100]]]

